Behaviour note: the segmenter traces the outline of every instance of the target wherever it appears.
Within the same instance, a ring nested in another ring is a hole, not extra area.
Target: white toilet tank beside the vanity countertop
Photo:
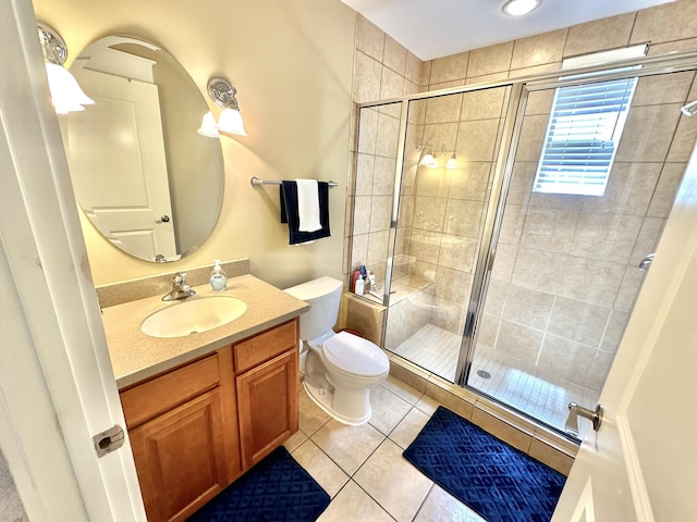
[[[310,306],[301,315],[301,339],[316,339],[337,324],[342,286],[341,281],[323,276],[283,290]]]

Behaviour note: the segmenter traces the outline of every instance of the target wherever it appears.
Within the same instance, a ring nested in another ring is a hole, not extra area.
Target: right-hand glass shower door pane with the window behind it
[[[561,431],[570,401],[595,407],[694,142],[694,77],[529,94],[468,387]]]

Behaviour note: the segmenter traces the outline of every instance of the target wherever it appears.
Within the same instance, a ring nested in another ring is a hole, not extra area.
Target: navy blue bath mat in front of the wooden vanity
[[[281,446],[187,522],[313,522],[330,497]]]

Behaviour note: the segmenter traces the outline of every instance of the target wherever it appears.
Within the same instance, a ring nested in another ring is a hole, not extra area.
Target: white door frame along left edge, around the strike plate
[[[146,520],[28,0],[0,2],[0,449],[38,521]],[[1,517],[1,515],[0,515]]]

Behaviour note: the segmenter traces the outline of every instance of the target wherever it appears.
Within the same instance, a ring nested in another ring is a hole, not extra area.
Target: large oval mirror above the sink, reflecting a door
[[[61,115],[77,203],[115,247],[138,259],[176,261],[210,235],[224,171],[220,140],[196,129],[208,105],[172,55],[110,36],[70,67],[95,100]]]

